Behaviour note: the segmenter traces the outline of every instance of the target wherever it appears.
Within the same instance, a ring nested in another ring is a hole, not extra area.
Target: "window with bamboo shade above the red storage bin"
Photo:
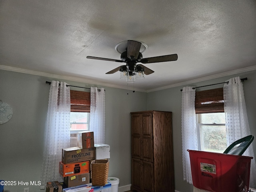
[[[222,153],[227,148],[223,88],[196,92],[198,148]]]

